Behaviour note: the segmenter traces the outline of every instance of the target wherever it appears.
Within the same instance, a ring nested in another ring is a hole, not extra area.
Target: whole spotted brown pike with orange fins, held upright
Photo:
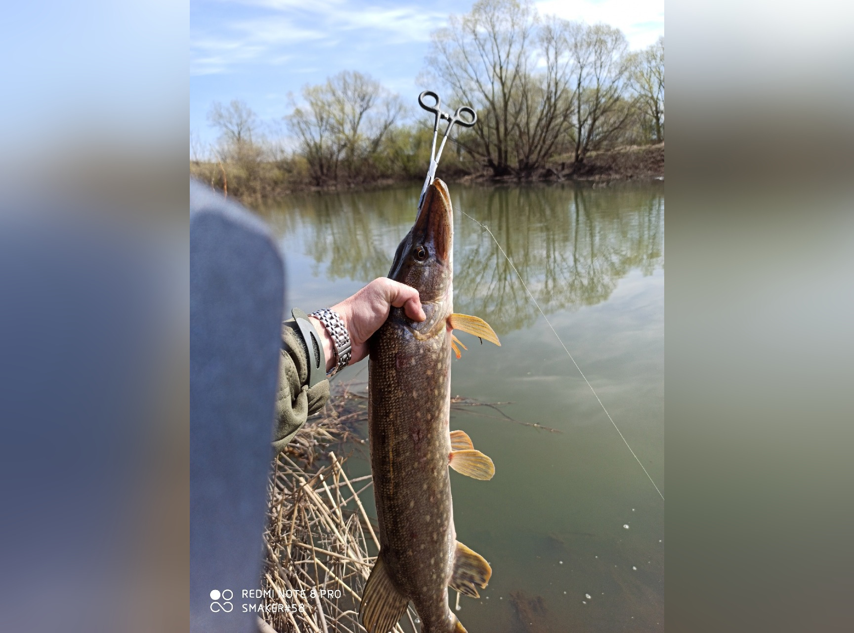
[[[449,431],[453,330],[500,345],[482,319],[453,313],[453,210],[447,186],[427,190],[389,278],[416,288],[427,319],[403,308],[371,337],[368,425],[380,551],[360,615],[368,633],[388,633],[412,601],[422,633],[465,633],[448,608],[447,588],[479,597],[492,574],[483,556],[456,540],[450,466],[490,479],[494,465],[463,431]]]

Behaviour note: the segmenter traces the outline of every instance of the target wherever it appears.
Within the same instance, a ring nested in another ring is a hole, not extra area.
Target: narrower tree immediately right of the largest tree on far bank
[[[614,26],[578,22],[564,25],[573,60],[575,89],[574,160],[584,161],[626,125],[631,108],[625,108],[625,83],[629,71],[629,44]]]

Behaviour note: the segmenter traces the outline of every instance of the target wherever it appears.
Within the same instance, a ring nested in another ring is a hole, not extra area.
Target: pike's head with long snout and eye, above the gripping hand
[[[397,247],[389,278],[418,290],[428,321],[433,320],[430,304],[451,307],[453,208],[442,180],[435,179],[427,188],[418,219]]]

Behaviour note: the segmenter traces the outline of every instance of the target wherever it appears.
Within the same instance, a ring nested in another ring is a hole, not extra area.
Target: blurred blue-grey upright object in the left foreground
[[[190,630],[257,630],[284,267],[260,220],[190,184]],[[213,593],[213,595],[212,595]]]

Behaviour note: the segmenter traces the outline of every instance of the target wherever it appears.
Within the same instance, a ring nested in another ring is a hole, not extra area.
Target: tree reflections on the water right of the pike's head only
[[[654,190],[525,187],[463,190],[459,198],[459,208],[489,226],[546,314],[603,302],[629,270],[650,274],[664,261],[664,197]],[[455,308],[497,331],[532,323],[536,307],[488,234],[465,217],[456,234]]]

